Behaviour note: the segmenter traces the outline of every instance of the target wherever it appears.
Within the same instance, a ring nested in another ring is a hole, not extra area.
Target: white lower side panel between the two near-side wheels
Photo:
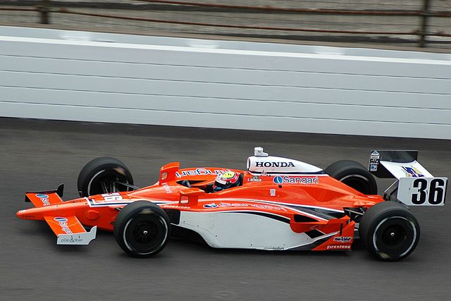
[[[310,238],[305,233],[293,232],[290,223],[244,211],[181,211],[178,226],[199,233],[208,245],[218,248],[309,250],[336,234]]]

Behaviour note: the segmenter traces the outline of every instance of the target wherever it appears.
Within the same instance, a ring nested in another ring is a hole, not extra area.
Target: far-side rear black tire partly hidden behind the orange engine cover
[[[324,171],[332,178],[362,192],[364,195],[377,195],[378,193],[376,179],[359,162],[352,160],[336,161]]]

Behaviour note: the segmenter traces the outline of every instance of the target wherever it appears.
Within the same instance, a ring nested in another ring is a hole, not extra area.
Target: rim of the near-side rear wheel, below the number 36
[[[416,242],[416,227],[402,216],[383,219],[373,234],[373,246],[383,259],[397,259],[412,251]]]

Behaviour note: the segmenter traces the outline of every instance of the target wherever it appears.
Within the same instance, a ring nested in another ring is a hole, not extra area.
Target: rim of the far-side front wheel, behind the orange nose
[[[118,192],[116,182],[130,184],[125,171],[121,170],[102,170],[96,173],[87,185],[88,195],[101,195],[103,193]],[[128,188],[125,190],[128,191]]]

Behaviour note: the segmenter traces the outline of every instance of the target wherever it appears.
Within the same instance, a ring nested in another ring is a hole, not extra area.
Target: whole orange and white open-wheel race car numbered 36
[[[80,171],[80,198],[64,202],[63,185],[26,192],[35,208],[17,216],[47,221],[61,245],[87,245],[97,228],[113,231],[133,257],[159,253],[173,235],[217,248],[314,251],[351,250],[359,238],[374,256],[395,261],[419,242],[408,206],[445,204],[447,178],[432,176],[417,155],[373,150],[369,169],[342,160],[323,170],[255,147],[246,171],[173,162],[144,188],[121,161],[101,157]],[[381,196],[373,175],[397,180]]]

